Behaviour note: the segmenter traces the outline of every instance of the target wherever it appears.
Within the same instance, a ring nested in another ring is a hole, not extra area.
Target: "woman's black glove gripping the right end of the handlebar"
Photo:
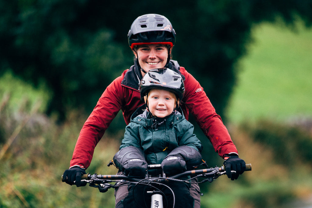
[[[232,181],[246,170],[245,161],[236,154],[225,154],[223,165],[225,166],[227,177],[231,178]],[[236,173],[232,173],[231,170],[236,171]]]

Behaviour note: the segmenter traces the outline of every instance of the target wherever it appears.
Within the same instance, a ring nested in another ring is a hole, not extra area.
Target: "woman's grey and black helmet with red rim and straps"
[[[137,54],[135,46],[163,44],[168,45],[168,59],[166,65],[170,60],[170,48],[174,46],[176,32],[167,17],[159,14],[145,14],[139,16],[132,23],[128,32],[128,43],[131,49]],[[139,65],[140,69],[144,71]]]

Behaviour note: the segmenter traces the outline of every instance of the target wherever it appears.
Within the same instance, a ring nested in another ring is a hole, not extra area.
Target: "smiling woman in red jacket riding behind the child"
[[[191,111],[214,150],[225,159],[227,176],[234,180],[244,172],[245,162],[238,157],[227,128],[201,85],[184,67],[180,67],[177,61],[170,60],[175,36],[172,24],[162,15],[146,14],[134,20],[128,33],[129,46],[135,56],[134,65],[105,89],[83,125],[70,162],[70,169],[63,174],[66,183],[73,185],[73,181],[80,181],[81,174],[85,174],[85,169],[90,165],[96,144],[120,109],[126,124],[129,124],[131,115],[144,104],[140,98],[140,80],[147,71],[163,67],[181,74],[185,79],[185,94],[180,105],[183,114],[188,120]],[[236,174],[232,174],[231,170],[236,171]],[[84,185],[80,182],[76,184],[76,186]],[[116,207],[122,207],[122,200],[128,195],[128,190],[125,187],[115,191]],[[195,200],[194,207],[200,207],[199,186],[192,184],[190,192]]]

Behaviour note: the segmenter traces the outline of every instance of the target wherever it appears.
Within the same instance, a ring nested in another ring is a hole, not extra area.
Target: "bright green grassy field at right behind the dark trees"
[[[238,82],[227,108],[234,123],[277,122],[312,116],[312,28],[262,23],[238,65]]]

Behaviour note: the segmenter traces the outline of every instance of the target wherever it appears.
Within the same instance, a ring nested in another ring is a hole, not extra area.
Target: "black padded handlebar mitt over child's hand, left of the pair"
[[[129,146],[119,150],[114,158],[116,167],[128,177],[143,178],[147,170],[147,162],[143,150]]]

